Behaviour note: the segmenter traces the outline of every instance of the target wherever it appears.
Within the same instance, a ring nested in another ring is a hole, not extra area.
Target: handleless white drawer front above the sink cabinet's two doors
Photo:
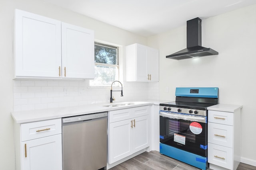
[[[149,106],[141,106],[109,111],[109,122],[112,123],[116,121],[132,119],[133,117],[148,115],[150,113],[149,108]]]

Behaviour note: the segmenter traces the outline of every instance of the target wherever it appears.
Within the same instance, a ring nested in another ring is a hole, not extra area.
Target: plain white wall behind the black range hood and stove
[[[182,27],[150,37],[151,43],[160,50],[160,100],[175,100],[176,87],[219,87],[221,104],[243,105],[242,162],[256,166],[256,5],[202,20],[202,46],[219,55],[166,59],[186,47],[186,21]]]

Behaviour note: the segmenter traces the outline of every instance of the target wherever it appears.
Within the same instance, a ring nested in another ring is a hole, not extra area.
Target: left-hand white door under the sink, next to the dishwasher
[[[132,130],[131,121],[128,119],[109,124],[109,164],[132,154],[130,138]]]

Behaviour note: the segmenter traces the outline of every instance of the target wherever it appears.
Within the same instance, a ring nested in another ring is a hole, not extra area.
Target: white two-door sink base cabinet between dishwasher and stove
[[[108,164],[149,147],[149,108],[109,111]]]

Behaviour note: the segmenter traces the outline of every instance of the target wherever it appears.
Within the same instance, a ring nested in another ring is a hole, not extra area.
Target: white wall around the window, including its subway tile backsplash
[[[125,70],[122,47],[132,43],[146,45],[146,38],[100,21],[82,16],[69,10],[44,3],[40,0],[0,1],[0,170],[14,170],[13,120],[10,115],[15,110],[77,106],[107,102],[109,88],[88,88],[88,80],[12,80],[12,22],[14,9],[32,12],[56,20],[93,29],[95,39],[120,45],[120,66]],[[122,72],[121,74],[125,74]],[[124,77],[125,80],[125,77]],[[63,88],[68,88],[69,96],[64,96]],[[84,88],[80,94],[79,89]],[[153,90],[153,93],[148,93]],[[124,97],[113,93],[116,102],[123,100],[144,100],[158,98],[158,84],[124,81]]]

